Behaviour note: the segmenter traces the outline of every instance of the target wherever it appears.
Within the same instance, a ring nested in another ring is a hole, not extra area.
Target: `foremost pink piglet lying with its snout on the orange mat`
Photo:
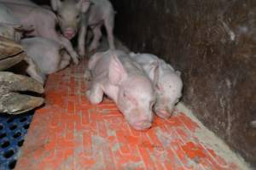
[[[132,127],[137,130],[151,127],[154,89],[129,54],[117,50],[96,53],[89,60],[88,70],[91,83],[86,95],[91,103],[102,102],[103,94],[106,94]]]

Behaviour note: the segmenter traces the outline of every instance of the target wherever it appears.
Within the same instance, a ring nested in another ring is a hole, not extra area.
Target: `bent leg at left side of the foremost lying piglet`
[[[91,87],[86,91],[87,99],[94,105],[102,102],[103,94],[102,87],[99,83],[92,83]]]

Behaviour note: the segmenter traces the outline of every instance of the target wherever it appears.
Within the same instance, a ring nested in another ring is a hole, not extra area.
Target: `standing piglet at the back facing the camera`
[[[61,31],[68,39],[72,39],[79,31],[79,54],[85,54],[85,39],[87,27],[93,31],[94,37],[89,50],[98,48],[102,37],[101,27],[104,24],[108,34],[110,49],[114,49],[113,25],[114,10],[108,0],[51,0],[51,6],[56,11]]]

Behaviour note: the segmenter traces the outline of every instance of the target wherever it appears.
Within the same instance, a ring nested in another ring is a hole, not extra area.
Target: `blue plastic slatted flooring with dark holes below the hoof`
[[[0,170],[15,168],[33,113],[17,116],[0,113]]]

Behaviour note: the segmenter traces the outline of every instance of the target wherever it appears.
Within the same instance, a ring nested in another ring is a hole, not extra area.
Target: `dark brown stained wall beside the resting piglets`
[[[183,102],[256,164],[256,1],[113,0],[116,35],[183,72]]]

